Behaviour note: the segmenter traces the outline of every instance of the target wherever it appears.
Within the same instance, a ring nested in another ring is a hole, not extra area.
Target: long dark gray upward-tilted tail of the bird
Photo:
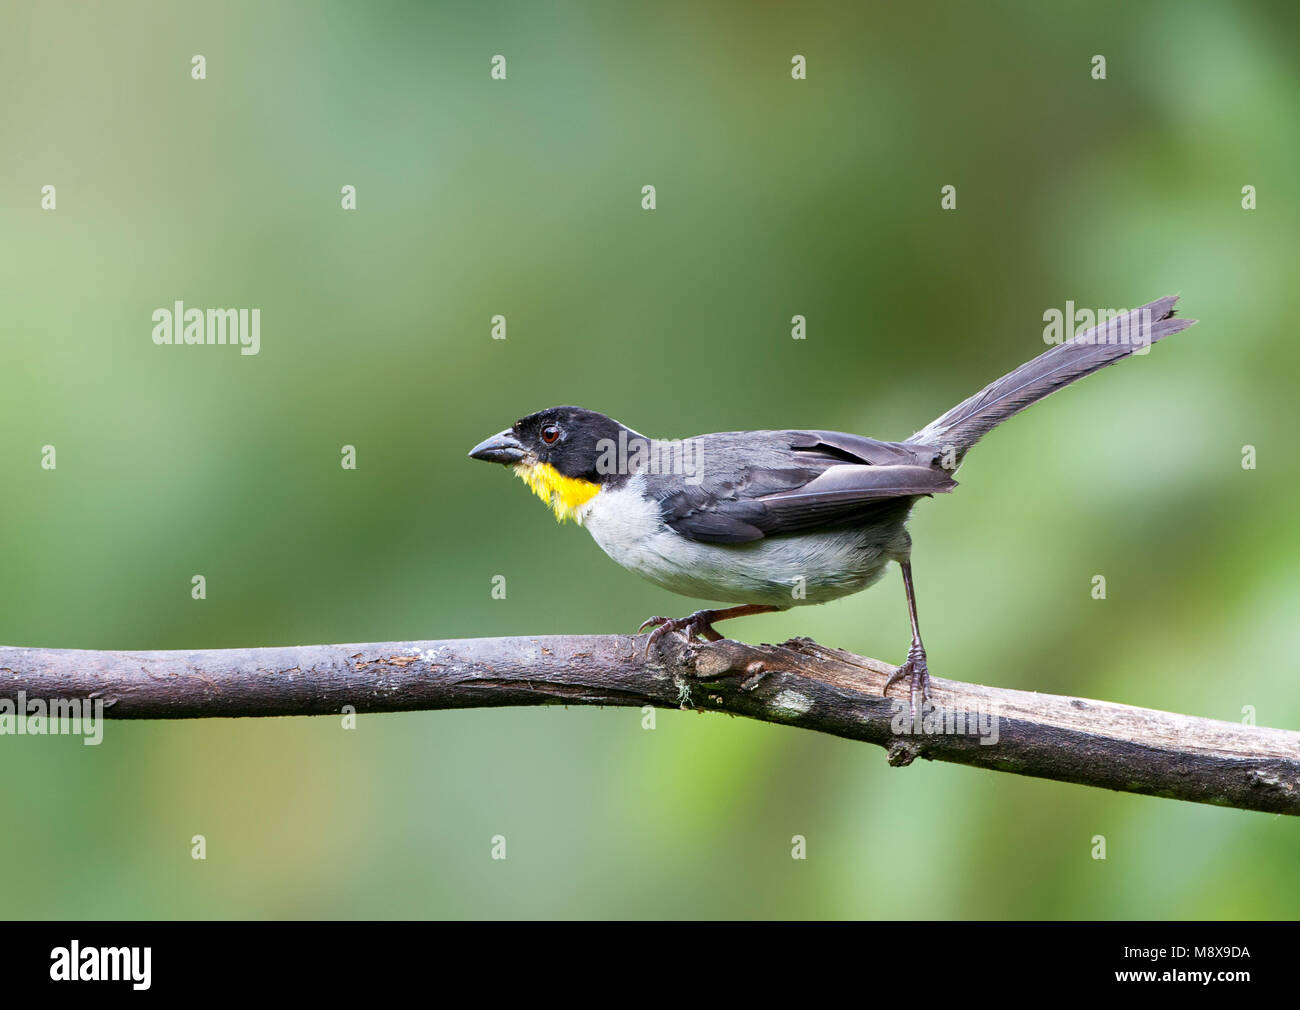
[[[1144,346],[1186,330],[1196,320],[1174,317],[1178,295],[1161,298],[1044,351],[922,428],[910,443],[952,447],[958,459],[987,432],[1062,386]]]

